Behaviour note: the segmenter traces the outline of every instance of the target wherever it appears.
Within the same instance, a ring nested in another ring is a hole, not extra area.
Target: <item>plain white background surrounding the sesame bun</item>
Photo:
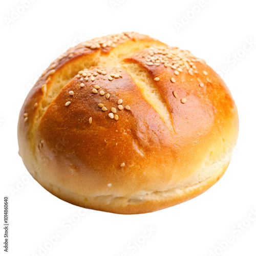
[[[0,4],[1,198],[3,202],[9,196],[9,255],[256,255],[256,219],[248,220],[256,211],[255,2],[205,0],[196,14],[191,7],[202,1],[33,2],[26,9],[19,0]],[[15,11],[23,13],[15,16]],[[193,200],[151,214],[88,210],[84,215],[82,208],[52,196],[27,172],[17,154],[18,113],[37,77],[63,51],[123,31],[188,49],[216,71],[224,70],[222,77],[239,111],[239,139],[223,178]],[[249,47],[246,40],[254,43]],[[73,224],[68,224],[69,218]],[[152,228],[151,234],[145,233],[145,226]],[[48,237],[56,232],[62,232],[61,238],[50,243]],[[223,243],[227,237],[232,243]],[[131,246],[134,241],[138,246]],[[39,250],[41,246],[47,250]]]

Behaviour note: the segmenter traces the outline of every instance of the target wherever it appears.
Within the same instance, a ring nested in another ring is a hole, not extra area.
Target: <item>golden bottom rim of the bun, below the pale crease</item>
[[[212,175],[193,185],[178,189],[171,188],[166,191],[148,191],[147,193],[143,191],[141,195],[131,198],[114,195],[97,197],[79,195],[64,187],[49,183],[48,180],[38,174],[33,173],[33,177],[51,194],[71,204],[88,209],[113,212],[115,214],[142,214],[180,204],[204,193],[223,176],[230,158],[226,163],[214,162],[211,165],[204,166],[205,177],[211,171]],[[204,176],[202,170],[197,172],[197,174],[199,174],[197,176]]]

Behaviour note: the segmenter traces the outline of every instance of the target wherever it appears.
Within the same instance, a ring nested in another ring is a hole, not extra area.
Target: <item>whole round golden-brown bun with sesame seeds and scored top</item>
[[[204,60],[127,32],[82,42],[42,73],[20,111],[19,155],[62,200],[141,214],[215,184],[238,127],[225,82]]]

